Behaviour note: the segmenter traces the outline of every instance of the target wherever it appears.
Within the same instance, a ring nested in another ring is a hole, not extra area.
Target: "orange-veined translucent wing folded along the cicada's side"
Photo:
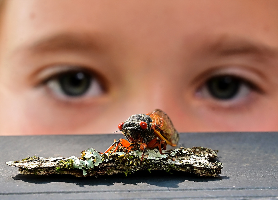
[[[147,115],[149,115],[152,120],[160,126],[160,130],[158,131],[166,140],[168,140],[167,143],[170,143],[171,146],[176,146],[179,141],[178,131],[176,131],[168,115],[160,109],[156,109]]]

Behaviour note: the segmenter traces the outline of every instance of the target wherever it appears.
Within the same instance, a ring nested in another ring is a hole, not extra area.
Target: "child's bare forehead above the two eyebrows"
[[[106,35],[157,47],[200,35],[258,37],[278,32],[277,1],[11,0],[3,26],[11,44],[71,33]],[[256,30],[254,32],[254,30]],[[277,38],[277,37],[276,37]],[[263,40],[261,39],[261,40]],[[273,38],[272,38],[273,40]],[[271,41],[267,41],[271,43]],[[10,44],[10,45],[11,45]]]

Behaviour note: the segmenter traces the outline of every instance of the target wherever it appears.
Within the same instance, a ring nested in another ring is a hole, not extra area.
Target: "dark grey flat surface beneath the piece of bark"
[[[218,149],[218,178],[138,174],[75,178],[26,176],[6,161],[105,151],[123,135],[0,137],[0,199],[278,199],[278,133],[182,133],[184,147]]]

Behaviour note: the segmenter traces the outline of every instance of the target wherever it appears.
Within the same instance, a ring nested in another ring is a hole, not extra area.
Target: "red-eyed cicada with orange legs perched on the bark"
[[[104,153],[119,147],[127,151],[142,151],[141,162],[147,149],[158,148],[166,150],[166,145],[176,146],[179,135],[174,128],[172,121],[163,111],[156,109],[151,113],[136,114],[130,116],[126,121],[121,122],[118,128],[126,139],[115,141]]]

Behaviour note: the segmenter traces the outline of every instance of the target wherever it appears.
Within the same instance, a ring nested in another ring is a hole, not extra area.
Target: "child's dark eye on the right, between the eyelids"
[[[259,89],[243,78],[233,75],[218,75],[205,82],[199,89],[198,96],[218,101],[241,100],[254,90]]]

